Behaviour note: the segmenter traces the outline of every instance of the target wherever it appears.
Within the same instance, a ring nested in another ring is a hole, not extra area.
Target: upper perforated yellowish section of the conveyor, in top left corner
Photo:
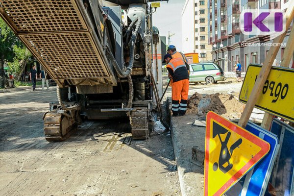
[[[73,0],[0,0],[17,32],[86,30]]]

